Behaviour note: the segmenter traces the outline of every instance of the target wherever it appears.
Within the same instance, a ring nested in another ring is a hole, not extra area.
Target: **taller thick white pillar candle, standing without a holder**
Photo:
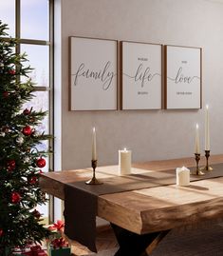
[[[131,150],[124,148],[119,150],[119,171],[120,175],[127,175],[131,173]]]

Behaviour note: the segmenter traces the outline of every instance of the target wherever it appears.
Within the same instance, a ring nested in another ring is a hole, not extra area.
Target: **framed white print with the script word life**
[[[121,108],[161,108],[162,46],[121,42]]]

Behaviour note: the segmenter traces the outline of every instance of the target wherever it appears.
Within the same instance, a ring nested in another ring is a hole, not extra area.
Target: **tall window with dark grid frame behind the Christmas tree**
[[[8,0],[0,1],[0,17],[9,25],[9,36],[18,39],[17,52],[28,54],[28,65],[33,69],[30,73],[35,83],[36,97],[26,104],[26,108],[47,110],[48,114],[39,127],[53,134],[52,128],[52,13],[53,0]],[[7,38],[6,38],[7,39]],[[23,78],[21,78],[23,79]],[[43,142],[40,147],[47,147]],[[44,171],[52,168],[52,159],[48,159]],[[52,200],[48,206],[40,206],[44,217],[53,219]],[[51,214],[49,214],[49,212]],[[49,216],[51,215],[51,216]]]

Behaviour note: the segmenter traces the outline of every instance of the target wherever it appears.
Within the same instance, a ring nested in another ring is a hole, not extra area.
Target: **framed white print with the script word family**
[[[117,109],[115,40],[70,37],[70,109]]]

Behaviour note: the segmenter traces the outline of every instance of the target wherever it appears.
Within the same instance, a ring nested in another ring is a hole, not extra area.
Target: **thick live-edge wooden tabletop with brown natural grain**
[[[204,163],[205,159],[201,158],[200,165]],[[223,163],[223,155],[210,157],[211,165],[218,163]],[[194,167],[195,159],[134,164],[132,173],[163,171],[182,166]],[[96,171],[97,178],[113,177],[118,174],[118,167],[98,167]],[[65,184],[85,181],[91,175],[91,168],[48,172],[42,174],[40,187],[46,193],[64,200]],[[191,182],[189,187],[170,185],[104,194],[98,198],[98,216],[138,234],[223,217],[223,177]]]

